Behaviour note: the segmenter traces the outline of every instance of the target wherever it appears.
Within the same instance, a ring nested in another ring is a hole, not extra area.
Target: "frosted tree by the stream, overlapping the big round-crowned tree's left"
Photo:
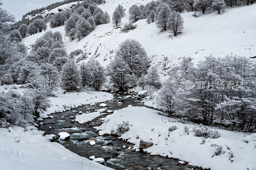
[[[121,92],[124,92],[125,85],[134,80],[131,69],[123,58],[115,56],[106,68],[110,81],[114,83]]]

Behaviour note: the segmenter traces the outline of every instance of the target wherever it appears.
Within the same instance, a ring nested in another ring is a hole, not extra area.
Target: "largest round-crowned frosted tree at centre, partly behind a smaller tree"
[[[116,51],[116,56],[123,58],[136,76],[140,76],[147,71],[149,59],[145,49],[137,40],[126,39],[121,42]]]

